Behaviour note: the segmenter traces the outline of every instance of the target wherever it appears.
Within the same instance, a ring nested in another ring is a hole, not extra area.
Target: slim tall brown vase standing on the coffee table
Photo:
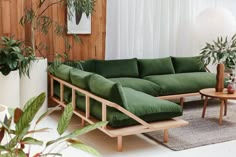
[[[224,90],[224,64],[217,65],[217,73],[216,73],[216,92],[223,92]]]

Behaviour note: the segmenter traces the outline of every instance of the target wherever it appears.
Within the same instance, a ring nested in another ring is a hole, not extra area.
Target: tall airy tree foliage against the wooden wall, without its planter
[[[31,7],[25,9],[25,14],[20,19],[20,23],[23,26],[26,24],[31,26],[31,46],[34,54],[36,51],[41,52],[43,48],[47,48],[43,42],[39,42],[36,45],[35,32],[47,34],[51,27],[53,27],[54,32],[58,36],[64,37],[66,49],[69,50],[71,48],[66,36],[65,24],[54,21],[52,17],[46,14],[46,11],[54,5],[60,5],[65,10],[68,7],[67,15],[71,20],[74,17],[74,12],[85,13],[88,17],[94,10],[95,0],[32,0]],[[74,37],[76,41],[79,40],[78,36],[74,35]]]

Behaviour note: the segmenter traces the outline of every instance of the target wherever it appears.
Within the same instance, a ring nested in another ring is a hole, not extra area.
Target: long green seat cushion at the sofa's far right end
[[[194,93],[203,88],[213,88],[216,84],[216,75],[208,72],[153,75],[144,79],[158,84],[160,95]]]

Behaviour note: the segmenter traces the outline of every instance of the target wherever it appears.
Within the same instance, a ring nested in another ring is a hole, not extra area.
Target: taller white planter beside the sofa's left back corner
[[[20,103],[21,108],[32,97],[39,95],[42,92],[46,93],[46,99],[39,110],[37,116],[40,116],[47,111],[47,59],[38,58],[35,62],[31,63],[30,78],[22,76],[20,79]]]

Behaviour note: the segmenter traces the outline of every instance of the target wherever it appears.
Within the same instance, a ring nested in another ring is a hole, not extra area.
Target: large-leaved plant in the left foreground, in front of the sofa
[[[10,116],[5,116],[4,121],[0,121],[2,124],[0,126],[0,156],[62,156],[60,152],[56,151],[57,146],[61,146],[60,144],[66,144],[66,147],[63,148],[71,146],[99,156],[99,153],[95,149],[81,143],[75,138],[98,127],[102,127],[106,125],[107,122],[98,122],[93,125],[87,125],[84,128],[74,130],[69,134],[65,134],[65,131],[73,115],[72,104],[68,104],[65,107],[65,110],[59,119],[57,125],[58,138],[45,142],[40,140],[40,138],[35,138],[35,136],[33,136],[36,133],[38,134],[40,132],[49,130],[49,128],[38,129],[37,124],[39,124],[39,122],[41,122],[44,117],[46,117],[55,109],[44,113],[37,121],[33,120],[40,107],[42,107],[45,97],[45,93],[41,93],[37,97],[31,98],[24,105],[23,110],[19,108],[16,108],[13,111],[10,110]],[[37,152],[33,152],[31,149],[31,147],[34,145],[40,146],[40,148],[37,147]]]

